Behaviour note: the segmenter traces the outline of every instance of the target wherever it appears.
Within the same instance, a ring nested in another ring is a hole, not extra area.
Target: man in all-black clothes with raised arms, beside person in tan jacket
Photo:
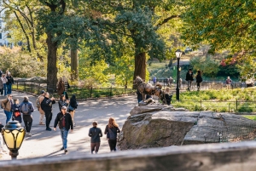
[[[46,130],[51,131],[51,128],[49,128],[49,123],[52,119],[52,104],[55,104],[55,98],[52,97],[49,99],[49,93],[44,93],[44,100],[41,103],[41,109],[44,111],[45,115],[45,124],[46,124]]]

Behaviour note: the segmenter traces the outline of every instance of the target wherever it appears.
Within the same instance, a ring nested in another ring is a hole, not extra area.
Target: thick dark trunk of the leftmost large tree
[[[47,85],[49,93],[53,93],[57,83],[57,48],[58,44],[52,41],[53,37],[50,32],[47,33],[46,43],[48,46],[47,54]]]

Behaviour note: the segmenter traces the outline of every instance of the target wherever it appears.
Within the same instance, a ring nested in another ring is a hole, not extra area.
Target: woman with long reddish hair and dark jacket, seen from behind
[[[119,125],[115,122],[113,117],[110,117],[108,120],[108,125],[104,131],[104,134],[107,134],[110,151],[116,151],[117,134],[119,132]]]

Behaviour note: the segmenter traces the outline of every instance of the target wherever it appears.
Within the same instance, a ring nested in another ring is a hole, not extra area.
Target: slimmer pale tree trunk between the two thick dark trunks
[[[78,49],[70,50],[71,56],[71,80],[78,80],[79,79],[79,56],[78,56]]]

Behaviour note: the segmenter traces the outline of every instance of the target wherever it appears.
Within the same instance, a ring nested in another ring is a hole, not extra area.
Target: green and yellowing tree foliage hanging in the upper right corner
[[[183,14],[187,43],[209,43],[212,50],[230,49],[242,75],[256,66],[256,2],[253,0],[188,0]],[[248,67],[247,66],[251,66]]]

